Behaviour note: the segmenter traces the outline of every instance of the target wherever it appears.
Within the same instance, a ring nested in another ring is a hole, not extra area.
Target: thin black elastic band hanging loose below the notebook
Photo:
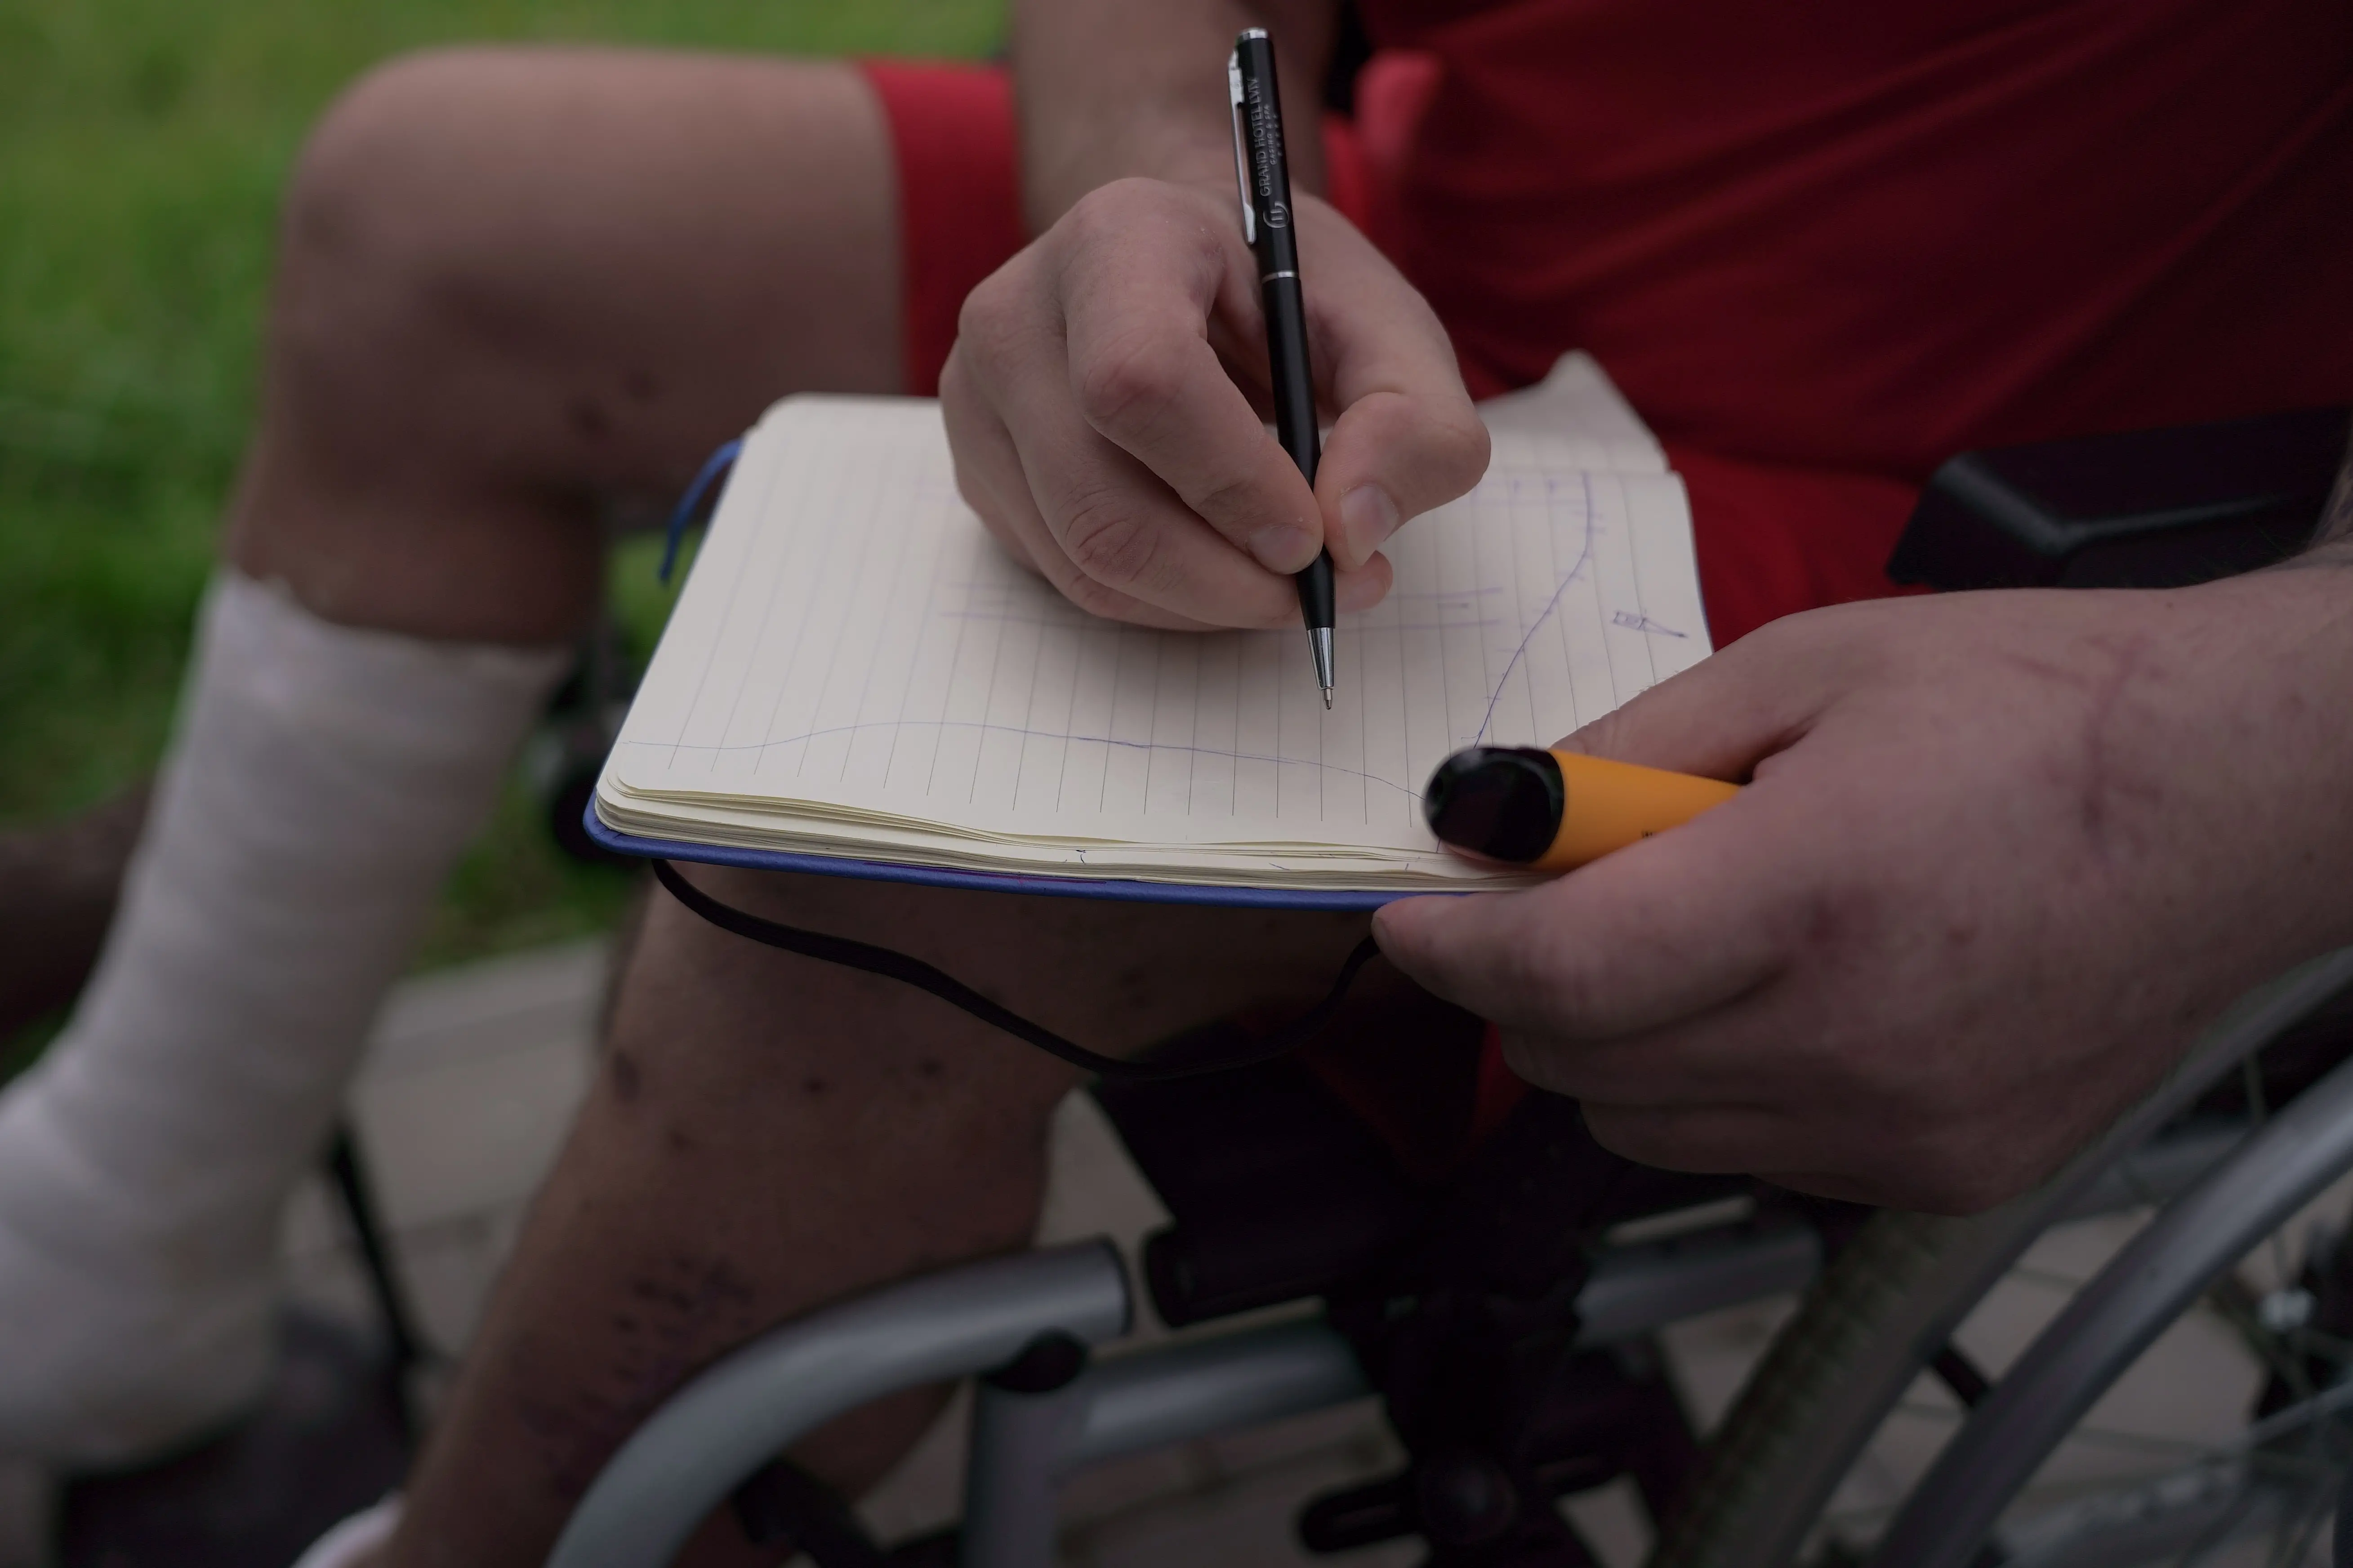
[[[800,926],[760,919],[758,914],[725,905],[701,891],[668,860],[654,860],[654,879],[671,889],[671,896],[678,903],[687,905],[720,931],[762,943],[767,947],[781,947],[784,952],[798,952],[800,957],[819,959],[821,964],[864,969],[871,976],[927,990],[948,1006],[958,1006],[981,1023],[1005,1030],[1019,1041],[1038,1046],[1047,1056],[1056,1056],[1073,1067],[1082,1067],[1106,1079],[1127,1079],[1129,1084],[1155,1084],[1167,1079],[1195,1079],[1209,1072],[1233,1072],[1235,1067],[1257,1067],[1259,1063],[1271,1063],[1278,1056],[1297,1051],[1311,1034],[1315,1034],[1315,1030],[1329,1023],[1332,1013],[1339,1011],[1341,999],[1348,994],[1348,985],[1355,983],[1355,973],[1381,952],[1381,947],[1367,936],[1355,945],[1355,952],[1348,954],[1348,961],[1339,966],[1339,978],[1332,980],[1332,990],[1322,1001],[1273,1034],[1252,1041],[1245,1051],[1184,1063],[1125,1063],[1115,1056],[1104,1056],[1101,1051],[1087,1051],[1085,1046],[1031,1023],[1021,1013],[998,1006],[955,976],[932,969],[922,959],[911,959],[904,952],[875,947],[873,943],[854,943],[847,936],[826,936],[824,931],[802,931]]]

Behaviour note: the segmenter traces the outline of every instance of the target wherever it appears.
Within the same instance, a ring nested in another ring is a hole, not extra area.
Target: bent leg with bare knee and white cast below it
[[[0,1093],[0,1319],[31,1331],[0,1446],[125,1462],[252,1396],[278,1208],[595,602],[591,498],[675,487],[788,390],[889,388],[894,244],[838,66],[478,49],[327,115],[242,571],[99,976]]]

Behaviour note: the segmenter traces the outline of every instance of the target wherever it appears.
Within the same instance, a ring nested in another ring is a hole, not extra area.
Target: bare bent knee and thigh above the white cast
[[[842,66],[616,49],[393,63],[287,202],[249,576],[419,637],[560,642],[598,491],[673,491],[793,390],[894,390],[880,106]]]

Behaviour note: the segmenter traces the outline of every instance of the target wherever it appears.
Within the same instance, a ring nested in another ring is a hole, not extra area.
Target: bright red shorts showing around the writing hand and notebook
[[[906,390],[939,393],[965,294],[1028,242],[1021,226],[1012,80],[991,66],[864,61],[889,120],[899,167]],[[1428,78],[1374,59],[1358,78],[1358,118],[1325,118],[1332,205],[1395,254],[1391,172]],[[1478,397],[1511,381],[1464,360]],[[1913,487],[1878,475],[1772,468],[1671,444],[1692,491],[1699,576],[1718,646],[1765,621],[1899,592],[1882,567]]]

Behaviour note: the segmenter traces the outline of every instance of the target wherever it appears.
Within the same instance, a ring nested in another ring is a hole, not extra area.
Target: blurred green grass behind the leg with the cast
[[[995,47],[1000,0],[0,0],[0,825],[153,766],[254,400],[278,188],[372,61],[452,40]],[[666,609],[626,562],[624,616]],[[518,790],[428,961],[598,929],[626,879]]]

